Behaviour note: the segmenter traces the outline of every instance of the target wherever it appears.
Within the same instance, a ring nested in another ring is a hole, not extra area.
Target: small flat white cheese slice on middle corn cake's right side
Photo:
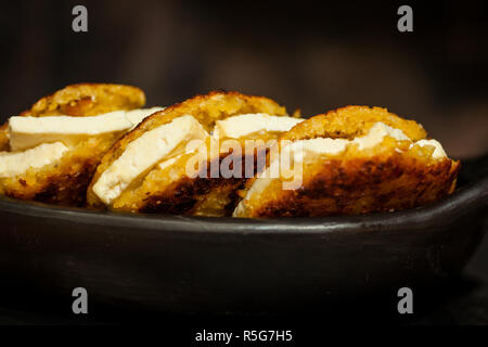
[[[239,139],[259,131],[284,132],[304,120],[294,117],[271,116],[265,113],[244,114],[217,120],[213,137]]]

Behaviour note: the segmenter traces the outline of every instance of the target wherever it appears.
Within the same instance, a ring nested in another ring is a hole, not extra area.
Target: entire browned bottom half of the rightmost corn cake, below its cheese
[[[308,155],[299,189],[283,190],[284,180],[272,179],[262,192],[243,201],[234,216],[357,215],[428,204],[452,193],[460,169],[459,162],[433,159],[432,152],[387,139],[367,151],[352,146],[334,156]]]

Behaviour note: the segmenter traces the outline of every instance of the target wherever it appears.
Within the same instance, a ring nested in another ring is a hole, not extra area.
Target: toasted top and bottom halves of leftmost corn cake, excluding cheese
[[[42,98],[24,116],[94,116],[117,110],[141,107],[142,90],[130,86],[82,83],[68,86]],[[7,127],[2,129],[7,131]],[[7,133],[7,132],[5,132]],[[63,157],[40,168],[30,168],[16,177],[0,178],[0,192],[11,197],[84,206],[89,182],[103,154],[121,136],[110,133],[89,137],[69,149]],[[3,144],[2,150],[8,150]],[[2,139],[2,136],[0,136]]]

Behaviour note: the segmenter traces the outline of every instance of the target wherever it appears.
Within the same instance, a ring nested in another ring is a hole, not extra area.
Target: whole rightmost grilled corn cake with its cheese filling
[[[233,216],[356,215],[435,202],[453,192],[460,163],[426,137],[381,107],[311,117],[280,137],[280,160],[247,182]]]

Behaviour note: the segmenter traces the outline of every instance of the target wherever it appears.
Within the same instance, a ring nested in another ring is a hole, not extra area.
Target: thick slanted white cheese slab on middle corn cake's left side
[[[207,137],[198,120],[190,115],[150,130],[127,145],[124,153],[100,176],[93,192],[110,205],[154,165],[181,154],[177,150],[181,150],[187,142]]]

